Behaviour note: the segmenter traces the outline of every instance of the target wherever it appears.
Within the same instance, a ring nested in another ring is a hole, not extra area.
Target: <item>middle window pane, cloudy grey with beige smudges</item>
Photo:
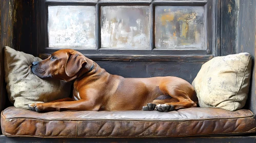
[[[148,6],[103,6],[101,14],[102,47],[148,49]]]

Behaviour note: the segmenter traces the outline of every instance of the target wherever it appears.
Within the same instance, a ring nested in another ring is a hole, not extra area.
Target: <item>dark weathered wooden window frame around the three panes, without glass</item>
[[[41,57],[63,49],[48,47],[48,6],[95,6],[96,8],[96,28],[95,42],[96,49],[73,48],[80,51],[88,58],[98,60],[186,60],[207,61],[212,57],[220,55],[220,0],[208,1],[75,1],[75,0],[42,0],[40,1],[38,16],[38,40],[37,54]],[[149,49],[111,49],[101,47],[101,6],[149,6],[150,12],[150,47]],[[155,7],[156,6],[203,6],[205,10],[205,50],[201,49],[156,49],[154,42]],[[68,47],[67,47],[68,48]],[[190,58],[187,58],[190,57]]]

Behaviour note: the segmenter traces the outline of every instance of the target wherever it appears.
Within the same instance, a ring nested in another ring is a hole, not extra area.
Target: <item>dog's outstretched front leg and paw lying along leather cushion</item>
[[[99,111],[100,106],[95,106],[94,102],[86,100],[64,101],[54,103],[29,104],[29,109],[37,112],[48,111]]]

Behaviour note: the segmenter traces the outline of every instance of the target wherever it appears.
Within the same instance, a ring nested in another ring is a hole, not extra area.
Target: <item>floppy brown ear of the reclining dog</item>
[[[86,63],[86,59],[84,56],[78,55],[75,52],[67,53],[68,60],[66,63],[66,74],[69,77],[73,77],[82,67],[84,63]]]

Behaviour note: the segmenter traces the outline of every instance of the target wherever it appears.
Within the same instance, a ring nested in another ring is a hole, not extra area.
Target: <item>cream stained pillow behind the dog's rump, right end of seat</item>
[[[230,111],[244,107],[250,85],[251,56],[240,53],[204,63],[192,85],[200,107]]]

